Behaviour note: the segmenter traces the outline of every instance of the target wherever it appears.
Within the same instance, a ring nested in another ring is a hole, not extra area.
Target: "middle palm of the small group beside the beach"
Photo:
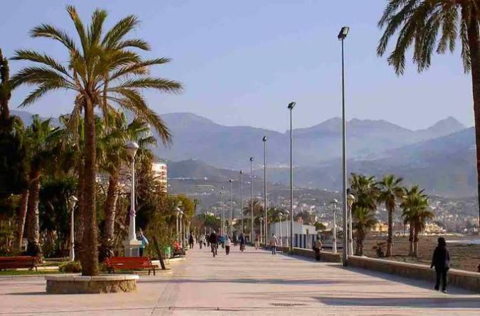
[[[395,178],[395,175],[385,175],[383,179],[378,182],[380,191],[378,192],[378,202],[385,203],[385,209],[388,212],[388,238],[387,238],[387,253],[385,256],[392,256],[392,239],[393,239],[393,212],[395,211],[395,204],[403,197],[404,190],[400,187],[402,178]]]

